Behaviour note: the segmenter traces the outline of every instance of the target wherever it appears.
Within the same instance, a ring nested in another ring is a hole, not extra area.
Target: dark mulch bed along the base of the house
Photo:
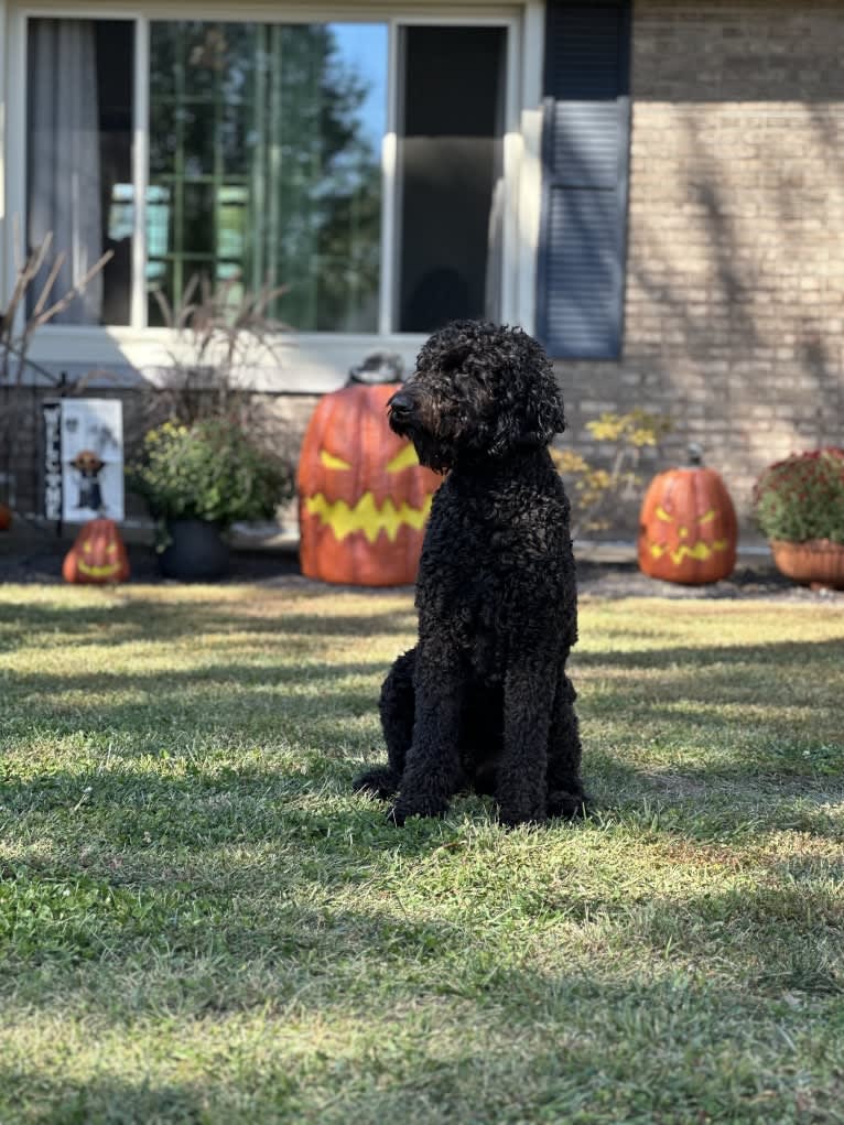
[[[62,559],[70,541],[48,534],[18,539],[0,536],[0,582],[61,583]],[[132,582],[163,583],[155,551],[143,543],[128,544]],[[289,550],[235,550],[225,583],[289,585],[316,590],[338,590],[303,577],[295,552]],[[666,597],[666,598],[774,598],[816,605],[844,605],[844,591],[812,591],[784,578],[770,559],[760,556],[751,564],[740,562],[734,574],[710,586],[679,586],[657,582],[641,574],[634,562],[604,562],[582,557],[577,560],[577,584],[582,596]],[[363,592],[361,587],[357,587]],[[370,590],[378,593],[378,590]]]

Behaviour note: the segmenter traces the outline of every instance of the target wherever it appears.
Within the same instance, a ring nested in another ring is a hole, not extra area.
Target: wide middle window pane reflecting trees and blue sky
[[[293,327],[375,331],[386,26],[153,22],[150,56],[149,287],[240,270]]]

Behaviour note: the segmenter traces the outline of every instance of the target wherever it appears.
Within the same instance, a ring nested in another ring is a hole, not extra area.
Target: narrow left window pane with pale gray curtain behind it
[[[53,251],[66,255],[52,299],[114,251],[57,323],[129,322],[133,43],[128,20],[28,22],[27,241],[52,232]],[[39,295],[36,282],[30,309]]]

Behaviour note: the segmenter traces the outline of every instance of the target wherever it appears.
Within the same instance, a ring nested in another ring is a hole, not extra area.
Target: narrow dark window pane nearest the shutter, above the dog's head
[[[402,332],[501,316],[505,42],[500,27],[404,29]]]

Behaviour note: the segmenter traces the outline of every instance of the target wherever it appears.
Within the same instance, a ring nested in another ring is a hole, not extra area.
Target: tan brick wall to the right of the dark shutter
[[[623,357],[558,367],[569,442],[670,414],[644,471],[700,442],[748,538],[766,464],[844,443],[842,57],[833,0],[635,0]]]

